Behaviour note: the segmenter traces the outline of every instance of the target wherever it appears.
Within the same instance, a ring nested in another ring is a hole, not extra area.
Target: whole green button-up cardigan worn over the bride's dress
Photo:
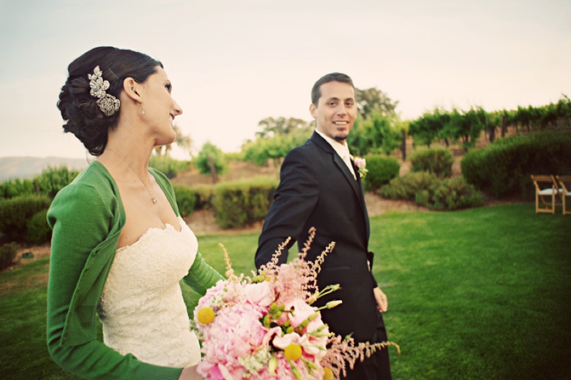
[[[179,215],[171,183],[157,170],[149,171]],[[61,367],[86,379],[176,380],[181,368],[143,363],[96,340],[96,309],[125,221],[117,185],[97,161],[56,195],[48,212],[54,230],[48,284],[49,353]],[[198,253],[184,280],[205,294],[222,278]]]

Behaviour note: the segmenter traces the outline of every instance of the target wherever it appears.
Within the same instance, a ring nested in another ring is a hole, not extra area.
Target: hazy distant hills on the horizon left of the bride
[[[0,182],[11,178],[34,178],[41,170],[66,165],[69,169],[82,170],[89,165],[85,158],[63,157],[0,157]]]

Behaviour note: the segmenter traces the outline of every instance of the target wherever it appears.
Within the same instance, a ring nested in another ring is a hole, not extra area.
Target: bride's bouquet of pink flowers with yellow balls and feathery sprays
[[[252,272],[253,277],[236,276],[224,251],[228,279],[208,289],[194,311],[203,351],[199,374],[207,380],[333,379],[342,371],[345,374],[345,361],[353,368],[357,359],[397,346],[391,342],[355,345],[352,338],[329,332],[320,309],[341,302],[328,302],[320,309],[311,304],[339,288],[319,291],[317,287],[320,265],[335,243],[315,262],[306,262],[314,236],[312,229],[298,257],[278,266],[278,256],[289,240],[284,242],[271,262]]]

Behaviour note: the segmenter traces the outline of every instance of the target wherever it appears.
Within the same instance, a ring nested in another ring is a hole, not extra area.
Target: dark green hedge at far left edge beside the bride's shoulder
[[[37,212],[49,208],[49,197],[24,195],[0,200],[0,231],[11,240],[24,240],[28,220]]]

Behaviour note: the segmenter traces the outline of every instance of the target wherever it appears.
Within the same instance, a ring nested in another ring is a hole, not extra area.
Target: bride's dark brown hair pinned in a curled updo
[[[119,106],[118,111],[106,115],[96,103],[98,98],[91,96],[88,74],[94,76],[97,66],[103,81],[109,82],[106,93],[118,99],[126,78],[143,83],[156,72],[156,66],[163,64],[138,51],[109,46],[91,49],[69,64],[69,76],[58,101],[61,117],[66,120],[64,132],[76,135],[92,155],[103,153],[108,132],[116,127],[121,113]]]

